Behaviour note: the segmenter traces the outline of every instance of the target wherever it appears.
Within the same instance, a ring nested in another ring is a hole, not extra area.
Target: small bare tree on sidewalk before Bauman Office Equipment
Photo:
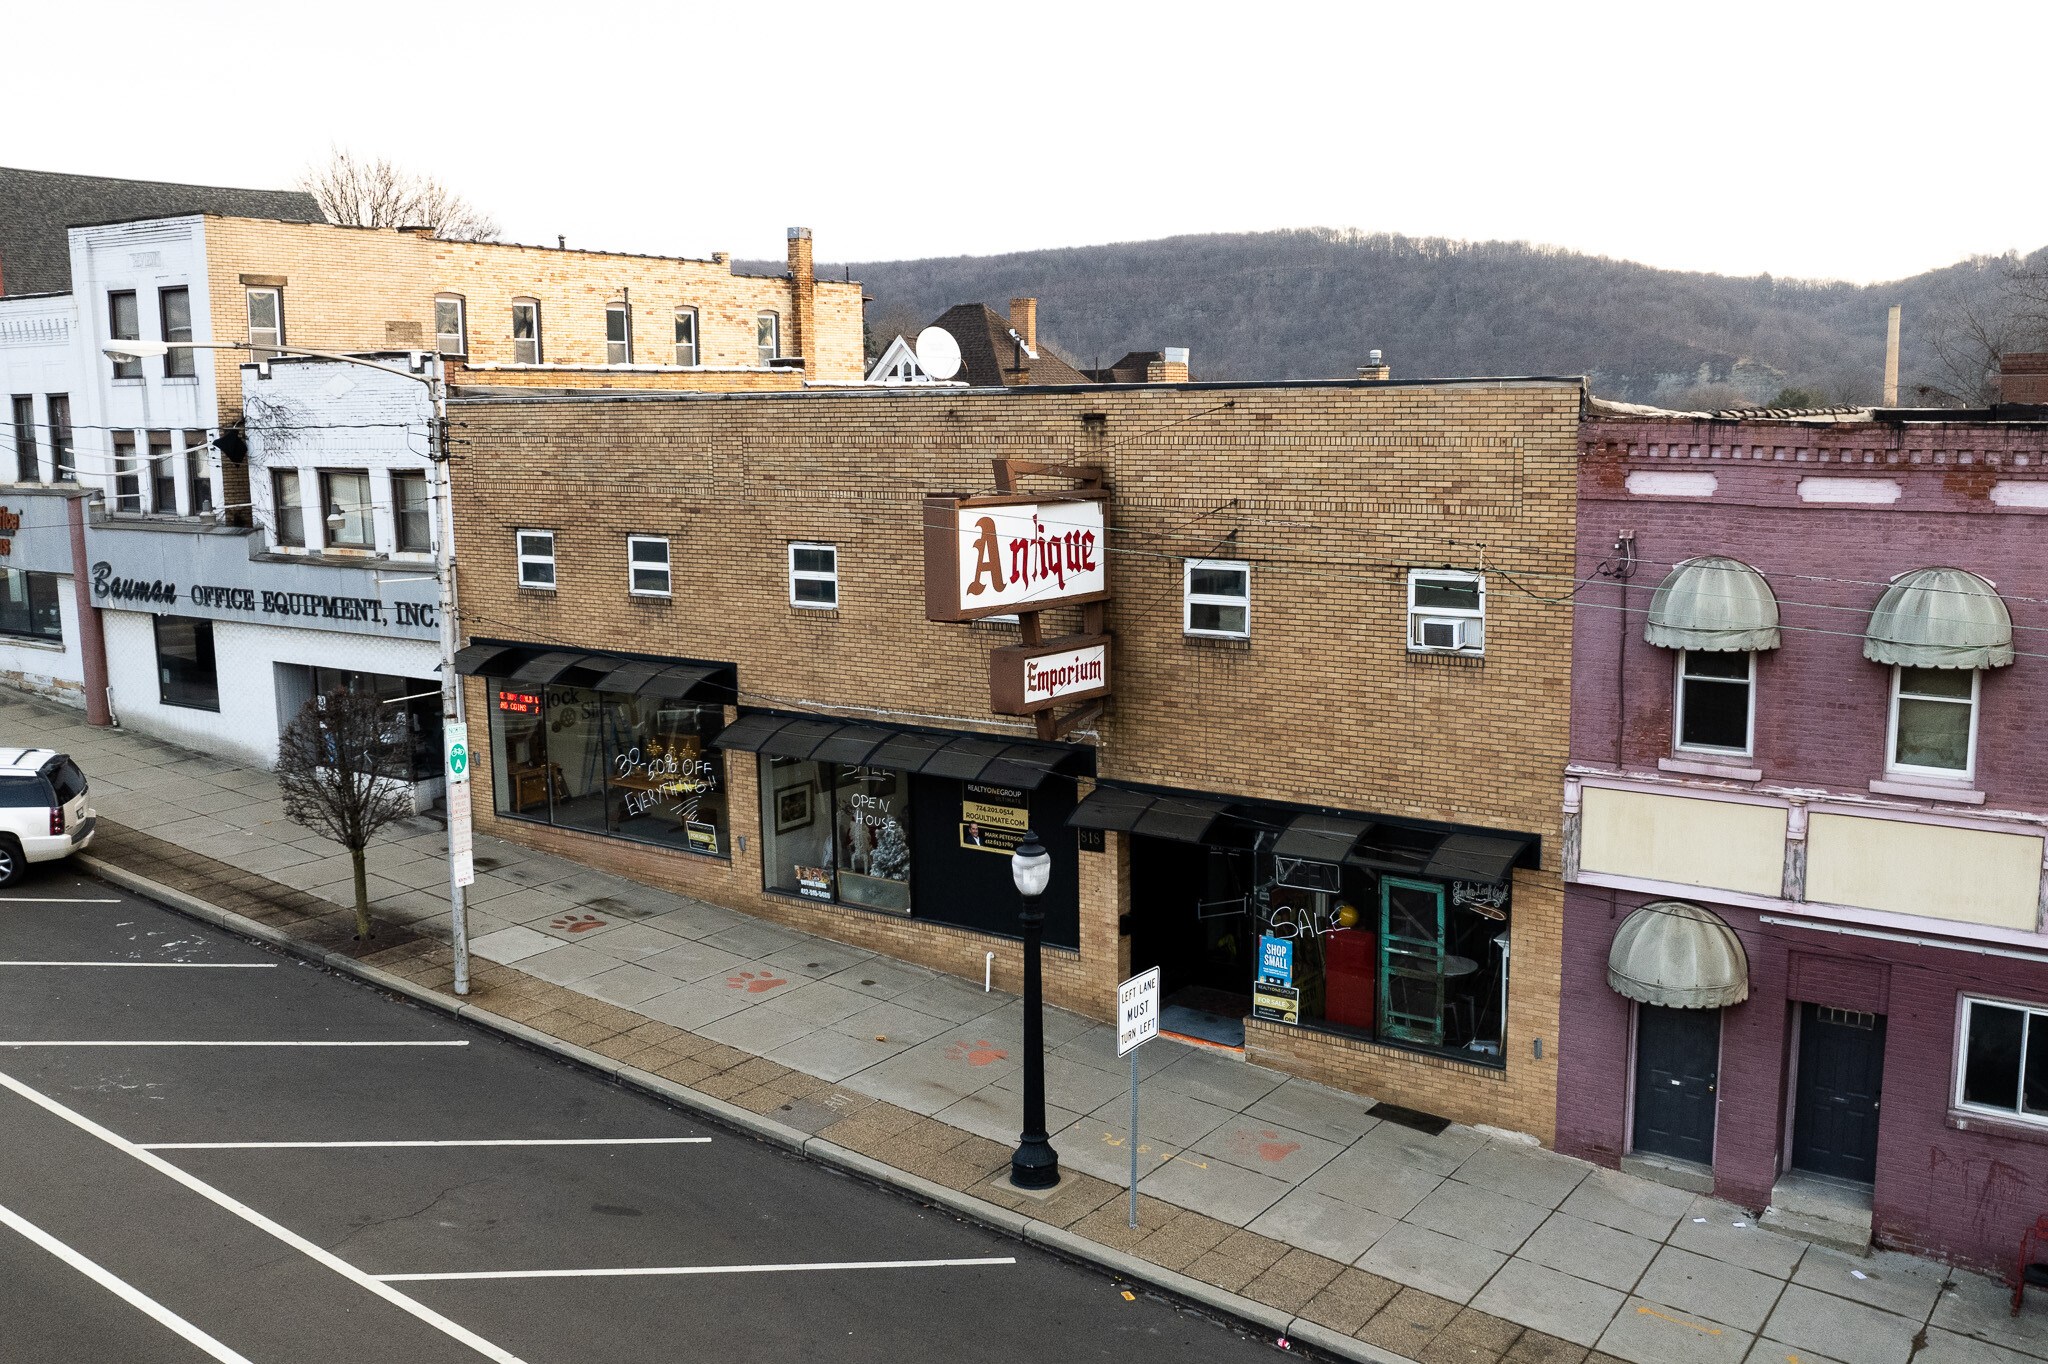
[[[356,872],[356,938],[371,936],[362,850],[412,813],[403,713],[350,690],[313,696],[276,741],[285,817],[348,848]]]

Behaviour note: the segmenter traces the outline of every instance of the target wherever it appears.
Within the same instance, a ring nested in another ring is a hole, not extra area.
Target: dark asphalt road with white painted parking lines
[[[61,864],[0,893],[0,961],[10,1364],[1274,1356]],[[205,965],[16,965],[121,961]],[[559,1274],[649,1268],[719,1272]]]

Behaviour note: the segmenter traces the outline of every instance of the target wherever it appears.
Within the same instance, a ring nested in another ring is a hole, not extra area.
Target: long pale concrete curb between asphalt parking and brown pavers
[[[1018,1237],[1020,1241],[1042,1245],[1044,1249],[1057,1251],[1069,1260],[1081,1260],[1094,1264],[1126,1280],[1151,1284],[1153,1288],[1163,1288],[1165,1292],[1171,1292],[1190,1303],[1200,1303],[1210,1311],[1219,1311],[1239,1321],[1247,1321],[1264,1331],[1272,1331],[1274,1335],[1300,1339],[1325,1354],[1333,1354],[1343,1360],[1360,1360],[1362,1364],[1413,1364],[1413,1360],[1409,1360],[1407,1356],[1380,1350],[1378,1346],[1370,1346],[1352,1335],[1339,1335],[1337,1331],[1317,1325],[1307,1317],[1294,1317],[1290,1313],[1280,1311],[1278,1307],[1255,1303],[1235,1292],[1217,1288],[1214,1284],[1204,1284],[1198,1278],[1190,1278],[1176,1270],[1161,1268],[1147,1260],[1139,1260],[1137,1255],[1130,1255],[1126,1251],[1112,1249],[1098,1241],[1090,1241],[1087,1237],[1079,1237],[1067,1231],[1065,1227],[1053,1227],[1051,1223],[1040,1223],[1032,1217],[1016,1212],[1014,1208],[1006,1208],[985,1198],[975,1198],[973,1194],[946,1188],[944,1184],[934,1184],[932,1180],[913,1176],[907,1169],[897,1169],[895,1165],[879,1161],[870,1155],[848,1151],[846,1147],[829,1143],[823,1137],[813,1137],[801,1128],[776,1122],[774,1118],[764,1118],[762,1114],[752,1112],[748,1108],[739,1108],[737,1104],[727,1104],[721,1098],[698,1094],[688,1085],[678,1085],[674,1079],[664,1079],[662,1075],[655,1075],[651,1071],[643,1071],[633,1065],[623,1065],[602,1053],[590,1051],[588,1047],[565,1042],[559,1036],[541,1032],[539,1028],[528,1028],[518,1020],[502,1018],[500,1014],[492,1014],[489,1010],[479,1008],[475,1004],[465,1004],[461,999],[442,995],[434,989],[426,989],[424,985],[416,985],[401,975],[393,975],[391,971],[385,971],[381,967],[371,967],[367,963],[360,963],[354,956],[348,956],[346,952],[334,952],[330,948],[313,946],[309,942],[299,942],[297,938],[291,938],[289,934],[283,934],[266,924],[258,924],[256,920],[233,913],[231,909],[221,909],[219,905],[199,899],[197,895],[186,895],[184,891],[176,891],[168,885],[135,875],[123,866],[115,866],[113,862],[106,862],[102,858],[90,854],[78,854],[72,860],[92,877],[98,877],[109,885],[121,887],[123,891],[133,891],[135,895],[156,901],[166,909],[176,909],[178,913],[205,920],[207,924],[223,928],[242,938],[256,938],[258,942],[268,942],[274,948],[281,948],[285,952],[291,952],[293,956],[328,967],[330,971],[352,975],[358,981],[391,991],[395,995],[403,995],[408,999],[414,999],[416,1004],[440,1010],[442,1014],[449,1014],[453,1018],[465,1018],[479,1026],[492,1028],[528,1047],[553,1053],[563,1061],[573,1061],[582,1067],[610,1075],[621,1083],[633,1085],[635,1090],[643,1090],[647,1094],[664,1098],[676,1104],[678,1108],[698,1112],[723,1126],[737,1128],[741,1133],[748,1133],[750,1137],[758,1137],[770,1145],[782,1147],[784,1151],[791,1151],[805,1159],[813,1159],[821,1165],[834,1165],[848,1174],[856,1174],[864,1180],[872,1180],[874,1184],[901,1190],[928,1204],[948,1208],[952,1212],[958,1212],[961,1217],[983,1223],[985,1227],[993,1227],[995,1231]]]

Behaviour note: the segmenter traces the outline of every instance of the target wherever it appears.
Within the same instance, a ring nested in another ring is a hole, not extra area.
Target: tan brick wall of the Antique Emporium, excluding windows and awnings
[[[1307,1032],[1253,1030],[1251,1053],[1550,1137],[1552,1053],[1534,1061],[1532,1038],[1556,1020],[1569,612],[1509,576],[1569,573],[1575,383],[498,397],[457,420],[473,442],[457,471],[465,635],[727,659],[743,705],[1018,735],[987,709],[987,653],[1016,629],[924,621],[920,500],[989,489],[991,457],[1102,463],[1118,639],[1114,715],[1092,735],[1104,776],[1544,836],[1516,885],[1505,1075]],[[516,526],[555,530],[557,592],[514,586]],[[627,596],[635,532],[672,537],[674,598]],[[840,547],[836,610],[786,604],[788,541]],[[1253,561],[1249,643],[1184,637],[1184,555]],[[1483,662],[1407,653],[1411,565],[1491,573]],[[1049,629],[1079,625],[1065,616]],[[731,832],[750,836],[729,864],[487,811],[479,827],[969,977],[993,948],[1016,979],[1004,940],[762,893],[754,762],[727,776]],[[1047,993],[1104,1016],[1128,967],[1128,858],[1110,838],[1079,862],[1081,948],[1053,954]]]

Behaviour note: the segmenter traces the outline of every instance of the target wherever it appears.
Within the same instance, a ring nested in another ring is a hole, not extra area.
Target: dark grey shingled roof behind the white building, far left
[[[184,213],[268,217],[285,223],[328,221],[313,197],[301,190],[115,180],[0,166],[0,295],[68,293],[72,289],[68,227]]]

